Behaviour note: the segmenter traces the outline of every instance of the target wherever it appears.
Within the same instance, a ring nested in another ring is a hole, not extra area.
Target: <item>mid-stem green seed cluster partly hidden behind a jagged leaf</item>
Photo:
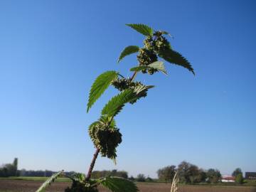
[[[113,80],[112,85],[119,91],[123,91],[123,90],[127,90],[127,89],[134,90],[136,87],[143,86],[142,82],[139,82],[139,81],[133,82],[130,78],[117,78],[117,79]],[[147,95],[147,90],[145,89],[145,90],[139,92],[136,100],[132,100],[129,103],[134,104],[141,97],[146,97],[146,95]]]

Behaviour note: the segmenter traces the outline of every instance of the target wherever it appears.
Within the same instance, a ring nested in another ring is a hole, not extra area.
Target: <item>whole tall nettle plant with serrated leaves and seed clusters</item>
[[[130,103],[134,104],[142,97],[146,97],[149,89],[153,85],[144,85],[142,82],[135,81],[138,73],[154,75],[161,72],[166,73],[164,62],[180,65],[188,69],[194,74],[191,64],[183,58],[183,56],[176,52],[166,36],[171,36],[166,31],[154,31],[151,27],[144,24],[127,24],[135,31],[142,33],[145,36],[143,41],[144,46],[127,46],[119,56],[118,63],[127,55],[137,53],[138,65],[131,68],[130,71],[134,72],[131,78],[124,78],[119,72],[110,70],[102,73],[97,77],[92,84],[89,100],[87,103],[87,112],[89,112],[92,105],[99,99],[99,97],[107,90],[110,85],[119,90],[119,94],[112,97],[103,107],[100,118],[90,124],[88,132],[92,142],[95,146],[95,154],[93,155],[89,171],[86,176],[83,174],[75,174],[68,176],[63,171],[54,174],[52,177],[43,183],[39,191],[43,191],[47,186],[52,183],[58,176],[67,176],[73,181],[71,187],[65,189],[65,192],[97,192],[97,186],[103,186],[113,192],[137,192],[137,186],[124,178],[107,176],[105,178],[92,179],[91,174],[98,154],[101,156],[112,159],[115,163],[117,158],[117,146],[122,142],[122,134],[117,128],[114,117],[122,110],[124,105]]]

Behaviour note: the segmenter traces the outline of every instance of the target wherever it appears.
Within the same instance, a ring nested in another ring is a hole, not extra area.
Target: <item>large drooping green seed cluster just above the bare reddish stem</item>
[[[102,156],[115,160],[116,148],[122,142],[122,134],[117,129],[114,119],[111,123],[107,117],[101,117],[89,127],[89,135]]]

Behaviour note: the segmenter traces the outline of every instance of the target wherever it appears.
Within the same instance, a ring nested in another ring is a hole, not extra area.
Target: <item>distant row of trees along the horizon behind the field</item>
[[[178,166],[165,166],[164,168],[156,171],[159,181],[171,182],[174,178],[174,175],[178,171],[178,179],[181,183],[218,183],[221,180],[221,174],[218,169],[200,169],[198,166],[188,163],[187,161],[182,161]],[[0,177],[9,177],[9,176],[52,176],[55,174],[55,171],[49,170],[18,170],[18,158],[14,159],[12,164],[4,164],[0,167]],[[67,175],[76,174],[75,171],[65,172]],[[128,176],[127,171],[117,171],[113,169],[112,171],[92,171],[92,178],[102,178],[105,176],[118,176],[122,178],[129,179],[131,181],[138,182],[153,182],[154,180],[149,176],[144,176],[144,174],[138,174],[137,177]],[[232,174],[235,177],[236,183],[243,183],[242,170],[240,168],[235,169]]]

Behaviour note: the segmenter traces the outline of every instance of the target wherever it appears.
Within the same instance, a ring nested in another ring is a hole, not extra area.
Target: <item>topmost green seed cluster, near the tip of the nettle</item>
[[[148,36],[144,40],[144,48],[139,49],[137,60],[139,65],[149,65],[158,60],[157,55],[161,55],[164,50],[171,48],[169,41],[163,36],[164,32],[156,31],[153,36]],[[154,68],[144,69],[142,73],[153,75],[158,70]]]

